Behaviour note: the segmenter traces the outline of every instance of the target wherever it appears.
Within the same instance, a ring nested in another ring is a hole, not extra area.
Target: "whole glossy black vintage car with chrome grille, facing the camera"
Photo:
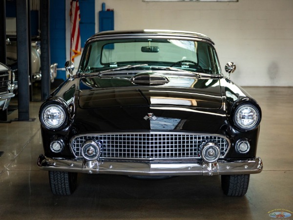
[[[226,195],[246,194],[261,120],[257,102],[223,77],[214,43],[194,32],[106,31],[87,40],[77,74],[42,104],[44,155],[53,194],[77,173],[221,175]],[[228,63],[226,71],[234,71]]]

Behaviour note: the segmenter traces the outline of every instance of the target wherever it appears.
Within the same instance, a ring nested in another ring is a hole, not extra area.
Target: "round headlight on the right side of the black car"
[[[235,110],[234,122],[242,130],[252,130],[260,122],[259,111],[252,105],[240,105]]]

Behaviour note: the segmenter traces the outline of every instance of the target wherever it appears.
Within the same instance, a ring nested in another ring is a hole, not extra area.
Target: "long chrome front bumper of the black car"
[[[40,155],[38,166],[42,170],[88,174],[117,174],[137,176],[188,176],[188,175],[236,175],[257,174],[263,164],[259,157],[248,160],[219,160],[214,164],[197,162],[120,162],[53,159]]]

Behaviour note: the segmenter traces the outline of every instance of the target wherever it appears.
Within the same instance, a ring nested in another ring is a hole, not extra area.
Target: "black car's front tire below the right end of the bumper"
[[[249,174],[222,175],[222,189],[224,194],[231,197],[242,197],[246,194],[249,185]]]

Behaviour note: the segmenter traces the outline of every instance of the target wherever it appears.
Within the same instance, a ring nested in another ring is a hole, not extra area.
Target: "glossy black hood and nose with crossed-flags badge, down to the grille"
[[[120,84],[121,85],[121,84]],[[225,120],[218,79],[191,87],[92,87],[81,80],[78,132],[220,130]],[[211,126],[213,125],[213,126]]]

